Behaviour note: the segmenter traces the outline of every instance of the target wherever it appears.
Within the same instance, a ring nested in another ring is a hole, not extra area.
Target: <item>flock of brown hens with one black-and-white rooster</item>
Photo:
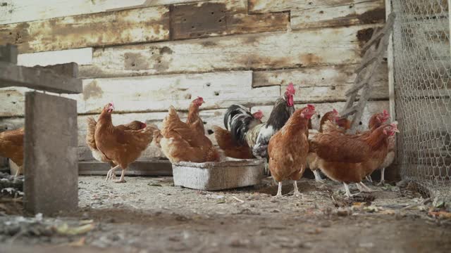
[[[153,142],[173,163],[218,162],[224,156],[265,158],[273,179],[278,181],[276,196],[282,195],[282,181],[286,179],[293,181],[295,195],[299,195],[297,181],[307,167],[314,171],[317,181],[323,180],[321,170],[328,178],[342,182],[348,197],[352,196],[349,183],[369,191],[362,180],[393,162],[394,135],[399,132],[396,122],[385,123],[390,115],[384,110],[372,115],[369,130],[346,134],[350,121],[332,110],[321,118],[319,131],[312,130],[314,105],[295,110],[294,95],[295,88],[290,84],[276,100],[266,122],[261,122],[261,111],[252,114],[242,105],[231,105],[224,115],[226,129],[213,128],[219,149],[205,135],[199,117],[199,107],[204,103],[200,97],[192,101],[186,122],[180,120],[171,106],[161,129],[138,121],[114,126],[111,121],[114,105],[109,103],[97,121],[93,117],[87,119],[86,141],[96,160],[111,164],[106,180],[115,178],[116,169],[122,169],[121,179],[116,181],[120,183],[125,182],[125,169]],[[23,128],[0,133],[0,155],[22,167]],[[384,171],[381,183],[383,174]]]

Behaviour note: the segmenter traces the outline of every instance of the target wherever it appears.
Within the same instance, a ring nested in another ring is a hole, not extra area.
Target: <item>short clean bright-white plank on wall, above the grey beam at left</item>
[[[25,67],[35,65],[56,65],[63,63],[77,63],[88,65],[92,63],[92,48],[75,48],[38,53],[22,53],[18,55],[17,64]]]

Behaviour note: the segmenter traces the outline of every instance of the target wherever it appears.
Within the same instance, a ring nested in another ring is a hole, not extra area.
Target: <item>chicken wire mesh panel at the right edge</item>
[[[402,179],[451,200],[450,0],[393,0]]]

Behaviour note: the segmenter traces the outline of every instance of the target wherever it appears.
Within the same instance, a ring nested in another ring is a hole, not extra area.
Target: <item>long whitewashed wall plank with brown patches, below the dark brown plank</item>
[[[373,25],[269,32],[94,50],[80,76],[121,77],[180,72],[267,70],[357,63],[362,31]],[[369,39],[369,38],[368,38]]]

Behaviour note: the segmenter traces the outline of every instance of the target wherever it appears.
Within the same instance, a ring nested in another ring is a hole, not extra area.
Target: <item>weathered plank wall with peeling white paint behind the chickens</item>
[[[80,65],[84,91],[68,97],[78,100],[79,155],[89,160],[86,118],[110,101],[115,124],[160,125],[169,105],[185,117],[202,96],[207,131],[233,103],[267,118],[289,82],[298,107],[340,110],[361,48],[384,18],[383,0],[4,0],[0,43],[18,45],[20,65]],[[362,127],[388,109],[385,65],[377,80]],[[0,89],[0,126],[23,125],[26,90]]]

